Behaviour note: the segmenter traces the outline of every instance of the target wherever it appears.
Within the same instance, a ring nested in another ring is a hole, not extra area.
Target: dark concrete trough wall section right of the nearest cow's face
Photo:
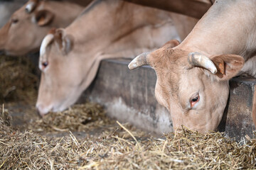
[[[230,81],[230,97],[225,108],[219,130],[229,137],[242,139],[245,135],[253,137],[255,125],[252,122],[252,99],[256,79],[238,77]]]

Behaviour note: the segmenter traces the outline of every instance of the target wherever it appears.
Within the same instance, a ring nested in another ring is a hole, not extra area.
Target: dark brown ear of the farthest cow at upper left
[[[36,11],[36,23],[38,26],[46,26],[53,21],[54,14],[46,9]]]

